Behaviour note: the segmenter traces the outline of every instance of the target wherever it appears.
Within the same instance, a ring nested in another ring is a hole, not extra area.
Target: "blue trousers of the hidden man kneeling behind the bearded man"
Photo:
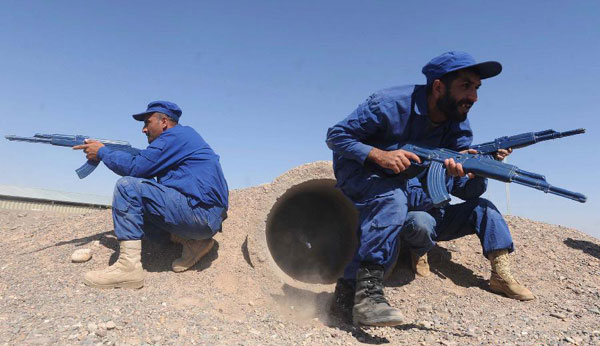
[[[508,225],[494,204],[484,198],[474,198],[431,212],[411,211],[400,232],[402,241],[418,255],[431,250],[437,241],[469,234],[479,237],[486,257],[496,250],[514,251]]]

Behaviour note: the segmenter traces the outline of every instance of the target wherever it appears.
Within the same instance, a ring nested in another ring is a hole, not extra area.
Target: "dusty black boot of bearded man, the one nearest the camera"
[[[352,321],[355,325],[397,326],[404,320],[383,296],[383,266],[363,264],[356,275]]]

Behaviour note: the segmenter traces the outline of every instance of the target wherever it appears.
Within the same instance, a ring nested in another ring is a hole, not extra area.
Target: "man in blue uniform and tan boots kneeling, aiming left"
[[[142,287],[144,235],[163,240],[170,236],[181,243],[181,257],[172,263],[175,272],[191,268],[212,249],[212,237],[227,215],[227,182],[219,156],[193,128],[179,125],[181,114],[176,104],[155,101],[133,115],[144,122],[142,132],[149,143],[137,155],[111,151],[91,140],[74,147],[123,176],[112,204],[119,259],[104,270],[86,273],[86,285]]]

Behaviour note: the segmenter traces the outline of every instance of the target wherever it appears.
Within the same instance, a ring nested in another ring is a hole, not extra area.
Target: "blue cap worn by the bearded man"
[[[502,71],[502,65],[497,61],[477,63],[469,53],[452,51],[431,59],[421,72],[427,77],[427,84],[431,84],[448,72],[464,68],[474,69],[481,79],[494,77]]]

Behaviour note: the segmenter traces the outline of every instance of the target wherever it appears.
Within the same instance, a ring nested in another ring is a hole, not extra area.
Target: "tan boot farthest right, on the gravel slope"
[[[521,285],[510,274],[508,251],[499,250],[488,254],[492,265],[492,276],[490,277],[490,289],[495,293],[502,293],[512,299],[532,300],[535,297],[530,290]]]

